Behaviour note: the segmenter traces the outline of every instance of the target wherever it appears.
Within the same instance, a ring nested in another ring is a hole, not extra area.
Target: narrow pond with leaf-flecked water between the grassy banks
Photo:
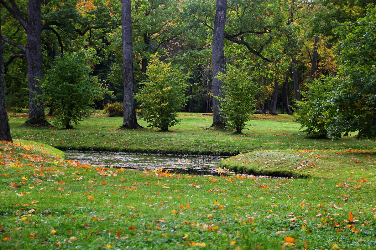
[[[168,169],[171,172],[190,175],[236,175],[227,169],[218,167],[226,156],[197,156],[187,154],[146,154],[123,152],[98,152],[65,150],[68,160],[88,163],[94,166],[126,168],[134,170]],[[244,174],[239,174],[244,175]],[[268,176],[247,175],[258,178],[275,178]]]

